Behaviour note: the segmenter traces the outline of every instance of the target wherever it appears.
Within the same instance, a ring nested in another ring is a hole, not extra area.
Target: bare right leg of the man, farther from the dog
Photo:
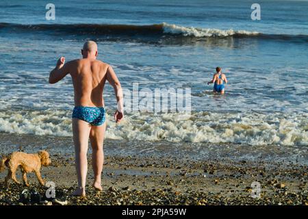
[[[92,126],[90,131],[90,141],[92,146],[92,168],[94,172],[93,187],[96,190],[101,188],[101,172],[103,171],[104,152],[103,141],[106,130],[106,122],[100,126]]]

